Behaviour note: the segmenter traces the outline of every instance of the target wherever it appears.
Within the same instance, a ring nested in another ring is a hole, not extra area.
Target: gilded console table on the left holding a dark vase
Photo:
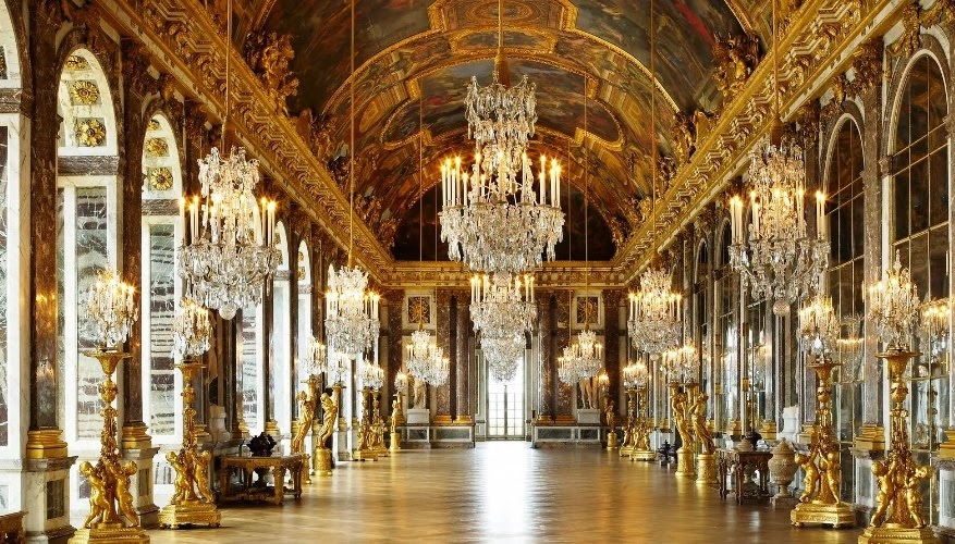
[[[265,500],[282,505],[285,493],[295,498],[302,496],[302,470],[305,468],[303,454],[292,455],[223,455],[219,457],[219,502]],[[274,485],[266,483],[271,472]],[[285,487],[285,473],[292,477],[292,489]],[[242,485],[233,486],[231,477],[238,473]],[[253,478],[255,474],[255,478]]]

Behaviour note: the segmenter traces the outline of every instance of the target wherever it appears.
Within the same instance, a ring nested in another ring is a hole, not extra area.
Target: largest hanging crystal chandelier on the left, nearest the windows
[[[262,286],[281,260],[276,203],[264,198],[259,208],[253,195],[258,182],[258,161],[247,160],[245,148],[232,148],[223,158],[213,147],[199,161],[201,201],[195,197],[186,207],[180,200],[183,225],[189,225],[188,242],[184,236],[180,248],[180,276],[192,298],[223,319],[261,302]]]

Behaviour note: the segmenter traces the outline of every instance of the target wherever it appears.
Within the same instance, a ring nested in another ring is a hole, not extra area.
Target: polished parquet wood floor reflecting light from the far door
[[[159,499],[159,497],[157,497]],[[161,499],[160,499],[161,500]],[[229,507],[220,529],[149,531],[162,543],[856,542],[793,529],[788,511],[722,502],[657,465],[597,449],[486,443],[342,463],[284,507]]]

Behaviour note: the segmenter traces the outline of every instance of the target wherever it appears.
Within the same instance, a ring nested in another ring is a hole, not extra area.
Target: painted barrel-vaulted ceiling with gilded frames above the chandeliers
[[[744,33],[767,37],[768,3],[656,2],[658,111],[650,131],[648,0],[504,0],[512,81],[528,75],[537,85],[531,153],[570,162],[565,177],[577,191],[585,188],[586,165],[593,212],[615,236],[636,227],[630,223],[637,205],[651,187],[651,135],[666,154],[676,112],[719,108],[714,40]],[[498,0],[360,0],[355,9],[356,193],[375,202],[366,214],[372,230],[417,238],[401,231],[414,227],[417,234],[416,203],[437,184],[438,162],[473,153],[463,99],[472,76],[481,84],[490,79]],[[319,159],[334,158],[350,139],[350,0],[249,0],[236,11],[240,42],[250,32],[292,36],[291,67],[299,87],[290,110],[322,120],[330,145]],[[586,133],[585,76],[591,79]]]

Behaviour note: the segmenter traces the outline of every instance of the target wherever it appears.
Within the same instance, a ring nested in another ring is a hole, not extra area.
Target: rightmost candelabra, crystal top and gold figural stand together
[[[859,542],[939,542],[926,526],[921,508],[921,482],[931,475],[932,468],[915,462],[908,438],[905,369],[909,359],[919,355],[911,351],[908,344],[917,319],[918,296],[908,269],[902,269],[897,252],[892,270],[869,286],[867,305],[867,322],[886,346],[879,358],[884,359],[889,368],[892,408],[890,449],[884,461],[872,462],[872,474],[879,484],[876,511]]]

